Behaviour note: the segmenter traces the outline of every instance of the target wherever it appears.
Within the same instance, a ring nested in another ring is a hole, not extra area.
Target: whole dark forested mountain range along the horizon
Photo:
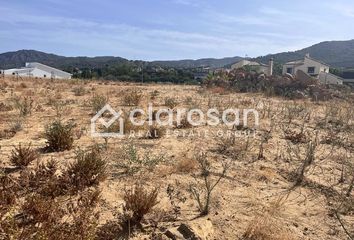
[[[288,61],[302,59],[306,53],[309,53],[313,58],[328,63],[332,67],[354,67],[354,40],[321,42],[298,51],[269,54],[266,56],[254,58],[253,60],[267,63],[270,58],[273,58],[278,63],[285,63]],[[242,57],[236,56],[222,59],[205,58],[198,60],[143,62],[131,61],[125,58],[113,56],[64,57],[35,50],[19,50],[16,52],[7,52],[0,54],[0,69],[23,67],[25,62],[41,62],[43,64],[53,66],[59,69],[101,68],[110,65],[142,63],[173,68],[196,68],[203,66],[208,66],[211,68],[220,68],[227,65],[231,65],[241,59]]]

